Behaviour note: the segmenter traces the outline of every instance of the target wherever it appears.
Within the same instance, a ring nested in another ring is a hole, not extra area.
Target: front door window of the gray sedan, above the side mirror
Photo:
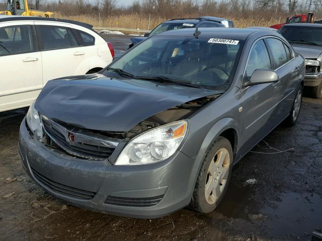
[[[257,69],[271,69],[271,61],[263,40],[254,44],[246,66],[246,77],[251,79]]]

